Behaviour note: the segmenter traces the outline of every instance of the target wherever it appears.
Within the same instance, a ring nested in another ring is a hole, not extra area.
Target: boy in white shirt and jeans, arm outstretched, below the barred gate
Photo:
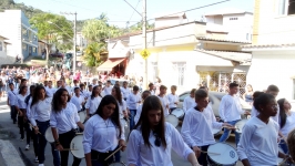
[[[250,115],[247,111],[243,111],[240,98],[236,96],[236,93],[238,91],[238,84],[235,82],[230,84],[230,92],[227,95],[224,95],[222,97],[221,104],[220,104],[220,115],[221,118],[231,124],[235,125],[241,120],[241,114]],[[224,133],[220,138],[220,142],[225,142],[231,134],[232,129],[224,128]],[[235,144],[238,144],[241,137],[241,133],[237,133],[235,131]]]

